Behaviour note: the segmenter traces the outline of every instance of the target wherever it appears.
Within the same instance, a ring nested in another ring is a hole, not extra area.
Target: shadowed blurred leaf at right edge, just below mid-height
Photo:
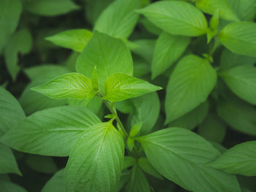
[[[229,126],[244,134],[256,135],[256,110],[240,99],[228,96],[219,100],[217,112]]]

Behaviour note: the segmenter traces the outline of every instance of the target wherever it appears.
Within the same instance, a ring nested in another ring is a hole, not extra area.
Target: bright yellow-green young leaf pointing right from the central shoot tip
[[[162,88],[127,74],[113,74],[105,81],[102,99],[115,102],[158,91]]]

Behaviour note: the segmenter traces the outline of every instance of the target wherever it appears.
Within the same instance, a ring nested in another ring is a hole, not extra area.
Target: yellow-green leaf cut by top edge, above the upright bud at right
[[[196,6],[210,15],[219,10],[219,18],[225,20],[239,20],[227,0],[197,0]]]

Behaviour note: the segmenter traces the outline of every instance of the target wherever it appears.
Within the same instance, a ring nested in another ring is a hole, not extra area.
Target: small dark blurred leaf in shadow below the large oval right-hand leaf
[[[214,113],[209,113],[197,129],[198,134],[213,142],[222,142],[226,134],[225,123]]]

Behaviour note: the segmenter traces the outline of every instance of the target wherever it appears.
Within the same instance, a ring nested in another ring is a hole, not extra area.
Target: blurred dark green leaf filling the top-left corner
[[[21,11],[22,3],[20,0],[0,1],[0,53],[17,28]]]

